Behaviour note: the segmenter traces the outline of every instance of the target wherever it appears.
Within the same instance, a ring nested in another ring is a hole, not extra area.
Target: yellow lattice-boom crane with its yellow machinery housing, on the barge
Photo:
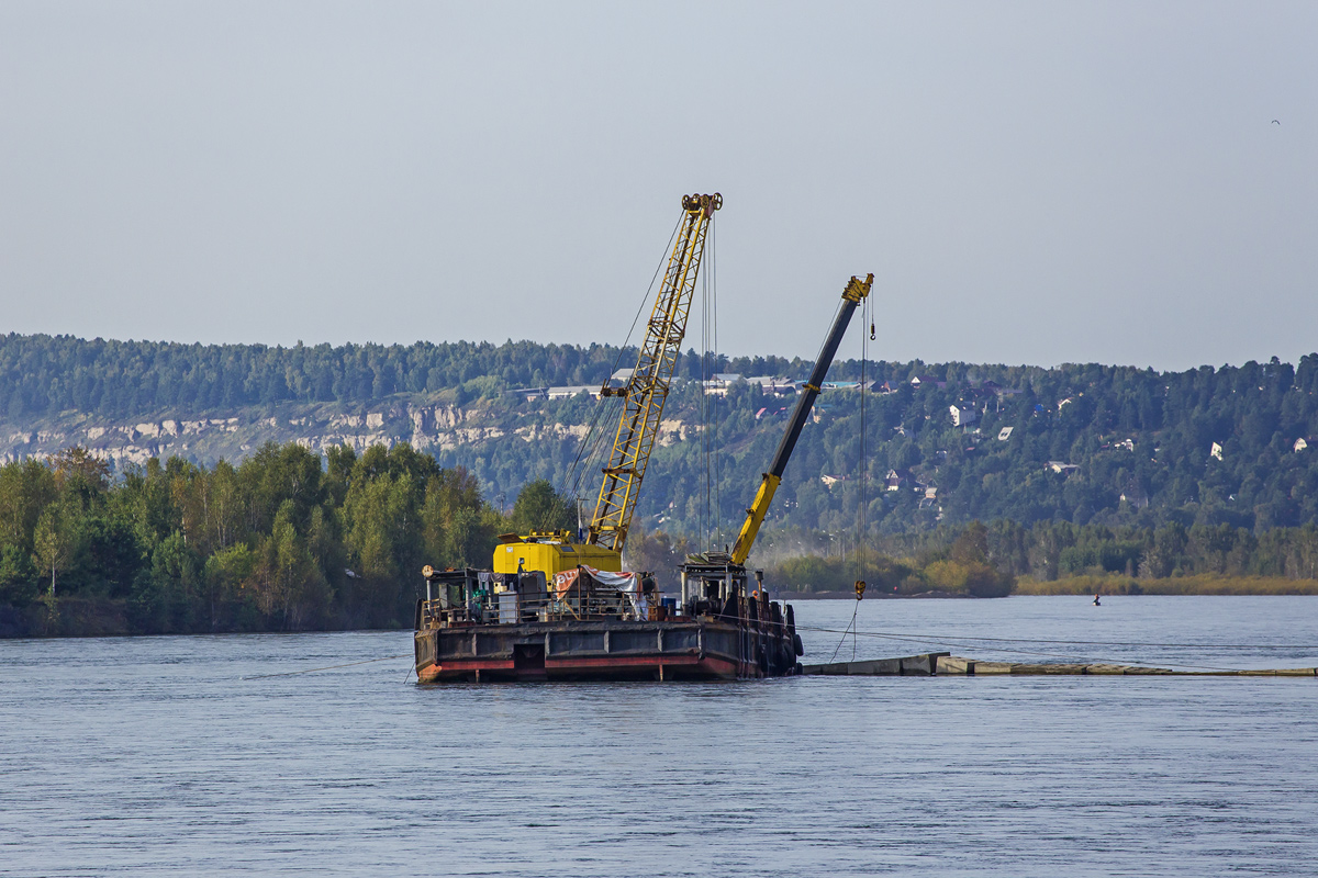
[[[705,255],[705,237],[714,211],[722,205],[724,196],[717,192],[681,199],[681,224],[668,255],[663,286],[646,323],[637,367],[625,386],[610,387],[605,380],[601,390],[601,396],[621,396],[623,405],[585,544],[573,544],[565,532],[507,534],[501,537],[494,550],[496,573],[543,570],[554,575],[581,563],[601,570],[622,569],[622,546],[627,541],[641,482],[659,433],[668,386],[681,354],[681,340],[687,334],[687,316]]]

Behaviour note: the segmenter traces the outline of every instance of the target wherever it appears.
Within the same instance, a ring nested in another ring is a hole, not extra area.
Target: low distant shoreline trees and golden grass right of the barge
[[[913,595],[944,592],[974,598],[1012,594],[1021,581],[1054,583],[1085,581],[1091,587],[1139,592],[1151,583],[1222,583],[1227,591],[1240,581],[1318,582],[1318,527],[1272,528],[1255,534],[1247,528],[1185,525],[1157,528],[1074,525],[1040,521],[971,521],[903,534],[871,534],[840,541],[826,532],[770,533],[750,563],[764,569],[772,588],[801,592],[850,592],[863,581],[870,594]],[[663,532],[639,532],[629,544],[637,566],[672,571],[689,541]],[[757,557],[758,555],[758,557]],[[660,582],[675,586],[672,574]],[[1194,591],[1194,588],[1188,588]]]

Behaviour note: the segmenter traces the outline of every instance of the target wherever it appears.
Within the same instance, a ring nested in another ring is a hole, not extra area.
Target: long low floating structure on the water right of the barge
[[[1318,667],[1282,667],[1278,670],[1173,670],[1147,665],[982,662],[952,653],[923,653],[902,658],[874,658],[862,662],[805,665],[803,674],[816,677],[1025,677],[1099,675],[1099,677],[1318,677]]]

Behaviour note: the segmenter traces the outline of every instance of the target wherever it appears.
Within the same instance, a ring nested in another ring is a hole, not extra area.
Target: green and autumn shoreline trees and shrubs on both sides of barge
[[[501,533],[575,529],[572,505],[538,479],[505,512],[469,471],[406,444],[269,442],[236,466],[150,458],[117,475],[71,446],[0,466],[0,637],[403,629],[423,565],[485,567]],[[866,598],[1318,595],[1311,524],[836,536],[767,530],[753,566],[803,596],[854,596],[862,579]],[[623,563],[672,592],[697,548],[638,517]]]

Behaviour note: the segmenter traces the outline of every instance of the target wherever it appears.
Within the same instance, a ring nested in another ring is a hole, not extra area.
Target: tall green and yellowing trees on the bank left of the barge
[[[565,527],[548,484],[511,513],[406,445],[265,445],[233,466],[86,449],[0,466],[0,632],[403,627],[426,563],[488,567],[500,533]],[[61,619],[92,606],[113,619]],[[107,628],[108,627],[108,628]]]

